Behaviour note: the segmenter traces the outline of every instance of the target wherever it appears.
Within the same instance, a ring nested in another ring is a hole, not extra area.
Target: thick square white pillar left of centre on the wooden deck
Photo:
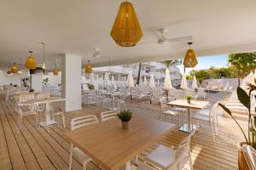
[[[63,54],[61,56],[61,92],[66,99],[65,111],[75,111],[81,107],[81,56]]]

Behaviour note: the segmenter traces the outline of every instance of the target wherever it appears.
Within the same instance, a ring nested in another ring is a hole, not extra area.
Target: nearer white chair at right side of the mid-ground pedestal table
[[[212,105],[212,108],[210,110],[201,110],[192,117],[196,122],[210,123],[213,142],[215,142],[215,136],[218,135],[218,116],[216,115],[217,107],[218,102]]]

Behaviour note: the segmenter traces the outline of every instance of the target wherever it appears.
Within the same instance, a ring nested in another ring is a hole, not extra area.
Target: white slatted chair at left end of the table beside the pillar
[[[20,99],[18,99],[18,114],[19,114],[19,121],[18,121],[18,127],[17,127],[17,132],[20,132],[20,128],[22,125],[22,119],[23,116],[27,115],[35,115],[37,112],[34,109],[34,94],[20,94]],[[24,111],[26,110],[26,111]],[[37,116],[36,116],[36,122],[37,122]]]

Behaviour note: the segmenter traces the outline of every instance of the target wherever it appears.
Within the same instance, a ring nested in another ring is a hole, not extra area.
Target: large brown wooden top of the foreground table
[[[122,129],[119,119],[112,119],[81,127],[64,136],[106,170],[116,170],[173,127],[173,123],[136,115],[129,129]]]

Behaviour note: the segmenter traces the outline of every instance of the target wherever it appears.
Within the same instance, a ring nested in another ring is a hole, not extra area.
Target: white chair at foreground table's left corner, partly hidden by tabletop
[[[97,117],[95,115],[87,115],[87,116],[79,116],[76,118],[73,118],[71,121],[71,130],[75,130],[79,127],[88,126],[91,124],[97,123]],[[79,150],[79,148],[75,147],[73,144],[71,144],[70,147],[70,155],[69,155],[69,167],[68,169],[71,170],[72,167],[72,158],[73,154],[76,155],[83,163],[83,170],[86,170],[86,164],[91,161],[91,158],[87,156],[82,150]]]

